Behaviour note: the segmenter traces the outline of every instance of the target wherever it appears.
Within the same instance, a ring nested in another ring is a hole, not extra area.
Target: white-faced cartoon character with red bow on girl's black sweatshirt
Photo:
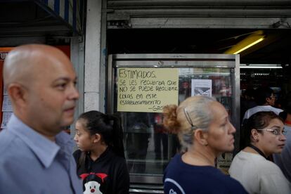
[[[104,183],[104,179],[108,177],[107,174],[90,172],[81,174],[80,177],[84,181],[84,194],[103,194],[101,192],[101,186]],[[100,179],[101,183],[98,182]]]

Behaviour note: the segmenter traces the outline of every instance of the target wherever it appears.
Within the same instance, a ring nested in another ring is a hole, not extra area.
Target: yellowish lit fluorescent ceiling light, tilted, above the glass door
[[[229,48],[225,53],[226,54],[238,54],[242,51],[245,51],[247,48],[250,48],[251,46],[254,46],[255,44],[258,44],[260,41],[264,40],[264,33],[261,30],[258,30],[252,34],[250,34],[248,37],[243,39],[242,41],[238,42],[238,44],[235,44],[231,48]]]

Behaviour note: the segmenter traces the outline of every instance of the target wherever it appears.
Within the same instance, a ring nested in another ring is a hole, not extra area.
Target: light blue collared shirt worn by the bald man
[[[0,193],[83,193],[72,146],[68,134],[54,143],[12,115],[0,132]]]

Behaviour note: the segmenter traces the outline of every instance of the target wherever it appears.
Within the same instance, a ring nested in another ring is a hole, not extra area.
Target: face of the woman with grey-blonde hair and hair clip
[[[212,122],[209,124],[207,132],[207,143],[215,155],[224,152],[231,152],[234,148],[235,128],[229,122],[228,112],[221,103],[213,102],[211,106],[213,112]]]

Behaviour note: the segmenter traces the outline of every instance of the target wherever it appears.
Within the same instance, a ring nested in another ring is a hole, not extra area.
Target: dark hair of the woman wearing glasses
[[[276,115],[274,112],[257,112],[247,119],[244,125],[244,134],[245,134],[245,146],[250,145],[251,143],[251,131],[252,129],[264,129],[267,127],[272,119],[279,119],[283,122],[283,119]],[[258,131],[261,133],[261,131]]]

